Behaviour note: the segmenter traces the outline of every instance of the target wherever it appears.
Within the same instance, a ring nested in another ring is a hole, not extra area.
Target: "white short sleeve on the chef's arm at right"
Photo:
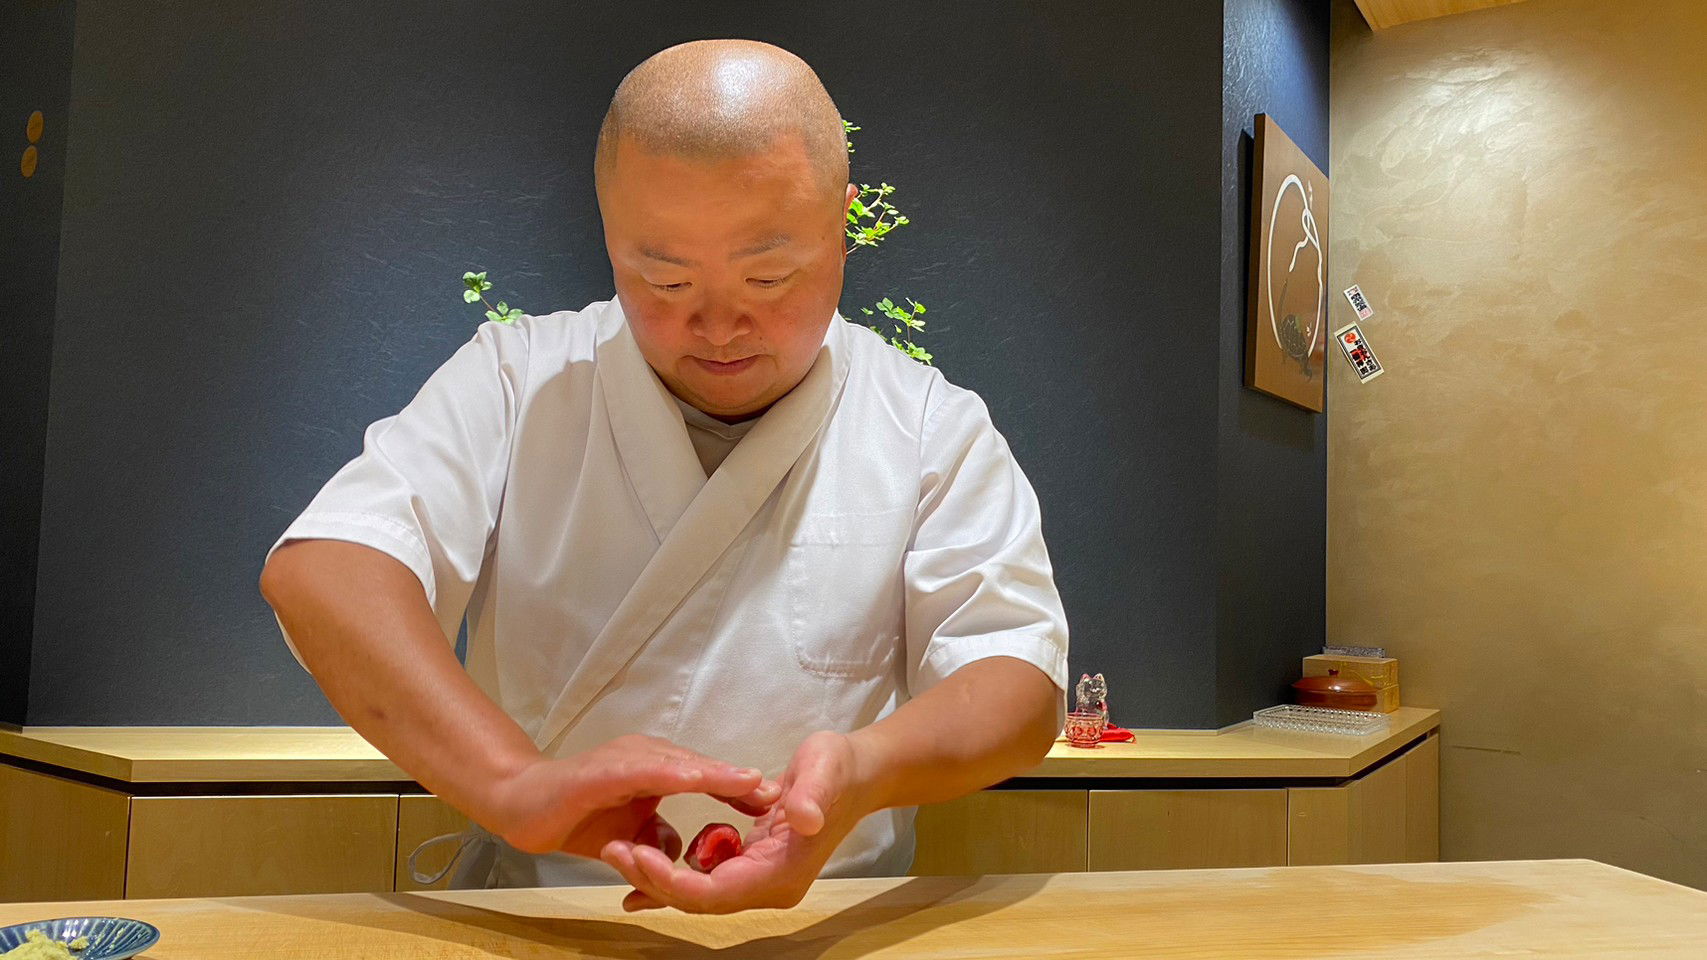
[[[978,395],[937,381],[906,553],[906,682],[918,695],[990,656],[1041,670],[1067,704],[1067,615],[1038,497]]]

